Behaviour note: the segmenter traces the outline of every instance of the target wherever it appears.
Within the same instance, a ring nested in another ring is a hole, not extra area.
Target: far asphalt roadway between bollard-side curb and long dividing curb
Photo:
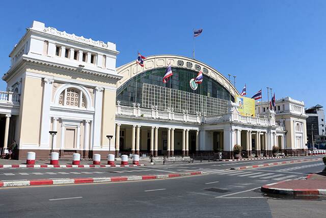
[[[320,157],[313,157],[320,158]],[[80,177],[113,177],[169,174],[189,171],[204,171],[207,174],[217,174],[233,166],[246,166],[261,163],[281,162],[284,160],[311,159],[311,157],[266,159],[255,161],[232,162],[203,162],[203,163],[178,163],[167,165],[150,165],[137,167],[98,167],[98,168],[0,168],[0,180],[31,180],[54,178],[80,178]],[[316,161],[317,162],[317,161]],[[307,162],[310,164],[314,162]],[[322,165],[322,162],[319,161]]]

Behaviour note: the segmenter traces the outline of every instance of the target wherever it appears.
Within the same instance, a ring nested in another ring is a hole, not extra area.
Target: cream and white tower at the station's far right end
[[[256,102],[256,112],[261,116],[265,116],[269,110],[269,102]],[[276,121],[284,127],[286,131],[286,147],[287,152],[302,153],[307,152],[307,115],[305,114],[305,103],[285,97],[276,100],[273,107],[275,111]]]

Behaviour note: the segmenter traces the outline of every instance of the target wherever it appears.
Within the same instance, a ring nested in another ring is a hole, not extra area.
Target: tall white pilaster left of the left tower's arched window
[[[40,147],[49,148],[49,130],[50,130],[50,103],[52,95],[53,79],[43,78],[43,99],[41,113],[41,136]]]

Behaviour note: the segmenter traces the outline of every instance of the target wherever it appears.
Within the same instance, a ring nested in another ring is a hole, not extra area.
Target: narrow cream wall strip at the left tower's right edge
[[[113,135],[111,145],[115,144],[115,120],[116,120],[116,91],[103,90],[103,106],[102,106],[102,146],[108,147],[108,139],[106,135]]]

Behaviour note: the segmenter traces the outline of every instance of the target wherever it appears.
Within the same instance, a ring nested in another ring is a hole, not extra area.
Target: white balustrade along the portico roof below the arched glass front
[[[250,125],[261,125],[261,126],[275,126],[275,117],[267,118],[264,117],[253,117],[253,116],[243,116],[239,113],[232,111],[226,114],[220,115],[201,115],[198,114],[188,114],[188,111],[183,113],[174,112],[173,110],[168,109],[168,111],[158,110],[157,107],[152,107],[152,109],[141,108],[140,104],[133,104],[130,106],[122,106],[120,102],[117,102],[116,105],[116,114],[117,115],[128,115],[135,117],[145,117],[145,118],[154,118],[154,119],[167,119],[167,120],[176,120],[180,122],[192,122],[192,123],[204,123],[204,124],[218,124],[223,122],[239,122],[241,124],[250,124]]]

